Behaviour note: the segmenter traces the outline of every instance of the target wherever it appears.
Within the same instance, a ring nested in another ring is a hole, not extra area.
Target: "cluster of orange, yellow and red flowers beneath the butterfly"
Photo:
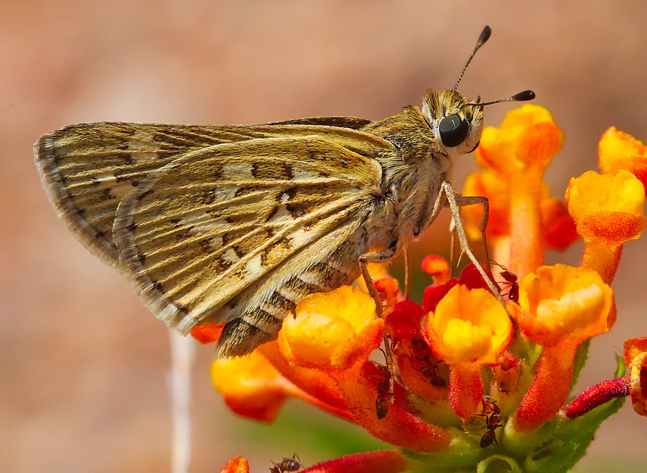
[[[312,294],[285,319],[277,342],[214,362],[214,385],[228,406],[270,422],[287,397],[298,397],[397,448],[307,472],[566,471],[625,397],[647,415],[647,338],[626,342],[614,379],[567,402],[589,340],[615,322],[609,285],[622,246],[647,226],[646,147],[609,129],[600,141],[602,174],[571,179],[564,203],[543,181],[563,139],[548,111],[524,105],[500,129],[485,129],[476,150],[483,171],[470,175],[463,194],[489,199],[486,234],[505,307],[476,267],[453,278],[438,256],[422,263],[433,278],[422,304],[402,300],[396,280],[376,281],[384,318],[375,318],[362,289]],[[468,234],[480,238],[480,210],[464,210]],[[578,237],[579,267],[544,265],[547,249]],[[201,330],[203,340],[217,338],[217,327],[211,336]],[[383,339],[386,364],[369,358]],[[223,470],[245,471],[240,458]]]

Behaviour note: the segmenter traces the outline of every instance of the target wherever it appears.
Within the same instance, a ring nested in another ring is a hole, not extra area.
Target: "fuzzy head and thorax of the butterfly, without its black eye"
[[[456,91],[428,91],[422,111],[409,106],[362,128],[397,148],[377,158],[384,170],[386,192],[384,204],[375,207],[366,223],[369,247],[386,248],[397,240],[400,248],[429,225],[427,217],[441,183],[450,178],[457,159],[476,148],[481,137],[483,111],[467,103]],[[457,146],[446,146],[439,122],[454,114],[468,122],[468,132]]]

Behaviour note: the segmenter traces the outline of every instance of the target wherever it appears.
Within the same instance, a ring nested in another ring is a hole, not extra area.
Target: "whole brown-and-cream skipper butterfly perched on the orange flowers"
[[[366,263],[390,261],[446,203],[484,203],[448,183],[489,104],[459,81],[379,121],[76,124],[43,135],[35,160],[71,232],[157,318],[183,335],[225,324],[217,355],[241,356],[303,296],[370,282]]]

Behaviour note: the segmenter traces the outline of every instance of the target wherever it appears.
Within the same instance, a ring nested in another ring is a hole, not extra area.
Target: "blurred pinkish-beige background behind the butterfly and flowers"
[[[41,134],[94,120],[384,118],[452,87],[489,24],[461,91],[493,100],[534,89],[566,135],[547,173],[563,196],[569,177],[597,169],[607,127],[647,140],[646,14],[642,1],[2,1],[0,470],[170,470],[166,328],[58,221],[32,162]],[[511,108],[489,107],[487,124]],[[470,170],[466,157],[457,187]],[[432,231],[421,254],[446,247],[446,226]],[[609,377],[626,338],[647,335],[646,248],[625,248],[618,322],[593,342],[578,390]],[[576,264],[581,249],[549,261]],[[294,451],[323,459],[276,443],[271,428],[243,444],[244,423],[210,387],[211,356],[199,348],[192,471],[239,454],[256,473]],[[647,419],[626,405],[578,471],[644,471],[646,441]]]

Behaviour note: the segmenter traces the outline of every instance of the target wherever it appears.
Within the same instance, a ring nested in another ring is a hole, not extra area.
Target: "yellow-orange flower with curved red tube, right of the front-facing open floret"
[[[519,303],[509,307],[521,331],[543,345],[539,369],[513,416],[516,430],[538,428],[562,407],[580,344],[609,331],[615,321],[613,292],[597,272],[544,266],[519,283]]]

